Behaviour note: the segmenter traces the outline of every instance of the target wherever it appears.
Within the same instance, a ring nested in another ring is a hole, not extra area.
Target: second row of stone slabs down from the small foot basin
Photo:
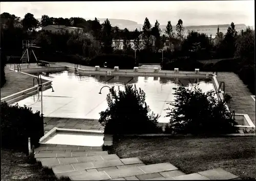
[[[57,153],[35,153],[35,158],[70,158],[70,157],[86,157],[86,156],[102,156],[107,155],[108,151],[88,150],[84,152],[57,152]]]

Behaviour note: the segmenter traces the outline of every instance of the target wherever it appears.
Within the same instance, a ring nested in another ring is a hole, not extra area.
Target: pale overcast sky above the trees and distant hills
[[[184,25],[235,24],[254,25],[254,1],[151,1],[151,2],[1,2],[0,11],[21,18],[26,13],[35,18],[50,17],[114,18],[143,23],[147,17],[153,24]]]

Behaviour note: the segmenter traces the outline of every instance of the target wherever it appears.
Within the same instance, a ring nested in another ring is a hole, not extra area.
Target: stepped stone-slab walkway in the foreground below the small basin
[[[168,162],[145,165],[137,157],[120,159],[100,147],[41,145],[35,149],[35,158],[57,177],[71,180],[240,179],[222,168],[185,174]]]

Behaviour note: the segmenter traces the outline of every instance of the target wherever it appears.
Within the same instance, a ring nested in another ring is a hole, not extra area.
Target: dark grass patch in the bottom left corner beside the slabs
[[[61,180],[55,177],[52,169],[42,168],[41,165],[37,163],[30,164],[26,154],[1,149],[1,180],[14,179],[26,181]]]

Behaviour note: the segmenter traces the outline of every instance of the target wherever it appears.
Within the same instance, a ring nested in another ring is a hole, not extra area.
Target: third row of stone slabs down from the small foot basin
[[[36,160],[40,161],[42,166],[54,167],[59,165],[67,165],[67,164],[75,164],[75,163],[119,160],[119,157],[116,154],[108,154],[108,155],[91,156],[91,157],[44,158],[44,159],[36,159]]]

